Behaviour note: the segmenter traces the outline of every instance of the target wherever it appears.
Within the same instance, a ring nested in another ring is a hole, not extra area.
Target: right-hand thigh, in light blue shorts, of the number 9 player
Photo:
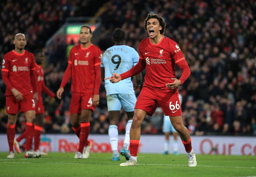
[[[135,103],[137,101],[135,94],[120,93],[118,94],[118,98],[126,112],[134,111]]]

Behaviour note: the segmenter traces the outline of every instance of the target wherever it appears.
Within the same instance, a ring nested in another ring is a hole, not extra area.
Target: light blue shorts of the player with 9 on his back
[[[126,112],[133,112],[137,99],[135,94],[112,94],[107,96],[108,111],[120,111],[121,107]]]

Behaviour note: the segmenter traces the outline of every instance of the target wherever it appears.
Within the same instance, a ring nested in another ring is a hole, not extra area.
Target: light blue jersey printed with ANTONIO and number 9
[[[139,54],[132,47],[126,45],[115,45],[108,48],[101,58],[101,67],[105,68],[105,78],[110,77],[113,73],[122,74],[139,61]],[[111,83],[105,80],[105,89],[107,96],[111,94],[126,93],[134,94],[131,78]]]

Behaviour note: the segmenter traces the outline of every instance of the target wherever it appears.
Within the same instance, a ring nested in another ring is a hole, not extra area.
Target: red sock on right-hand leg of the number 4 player
[[[90,132],[90,122],[81,123],[81,131],[79,135],[78,152],[83,153],[84,146],[89,144],[88,136]]]

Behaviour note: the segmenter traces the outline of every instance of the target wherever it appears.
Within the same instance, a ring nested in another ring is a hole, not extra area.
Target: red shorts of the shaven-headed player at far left
[[[6,96],[6,113],[8,114],[18,114],[20,112],[35,111],[36,103],[34,101],[33,95],[23,95],[23,100],[19,101],[14,96]]]

